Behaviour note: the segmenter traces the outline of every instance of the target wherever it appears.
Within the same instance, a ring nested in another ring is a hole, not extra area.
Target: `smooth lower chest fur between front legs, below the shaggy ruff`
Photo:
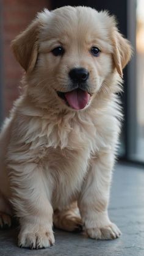
[[[52,180],[52,206],[64,207],[77,199],[88,170],[88,150],[49,148],[45,174]]]

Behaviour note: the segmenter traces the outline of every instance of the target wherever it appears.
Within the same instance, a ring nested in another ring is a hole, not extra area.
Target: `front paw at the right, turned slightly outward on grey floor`
[[[117,225],[110,223],[104,227],[93,227],[85,230],[90,238],[96,240],[113,240],[121,235]]]

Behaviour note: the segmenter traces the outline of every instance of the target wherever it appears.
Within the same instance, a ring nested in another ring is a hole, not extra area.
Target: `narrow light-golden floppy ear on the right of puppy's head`
[[[121,77],[123,77],[123,68],[131,59],[132,49],[129,41],[116,30],[113,31],[113,60],[115,67]]]

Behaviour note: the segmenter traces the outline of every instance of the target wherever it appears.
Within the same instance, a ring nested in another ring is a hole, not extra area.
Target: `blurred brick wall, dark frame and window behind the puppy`
[[[13,101],[19,95],[23,70],[16,62],[10,42],[23,31],[37,12],[63,5],[87,5],[107,9],[117,16],[120,32],[133,46],[134,54],[124,69],[124,112],[119,158],[144,164],[144,0],[0,0],[0,124],[9,116]]]

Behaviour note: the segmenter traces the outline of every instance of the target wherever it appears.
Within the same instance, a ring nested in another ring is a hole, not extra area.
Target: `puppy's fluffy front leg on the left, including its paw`
[[[52,232],[52,207],[43,169],[37,164],[12,166],[10,185],[12,204],[20,218],[18,236],[20,247],[43,248],[54,244]]]

